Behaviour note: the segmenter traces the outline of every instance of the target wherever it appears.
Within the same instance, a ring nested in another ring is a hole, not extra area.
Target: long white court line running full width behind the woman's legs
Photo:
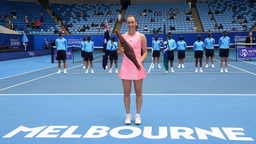
[[[0,96],[4,95],[124,95],[124,94],[0,94]],[[136,94],[131,94],[136,95]],[[142,94],[142,95],[210,95],[210,96],[216,96],[216,95],[226,95],[226,96],[256,96],[256,94]]]

